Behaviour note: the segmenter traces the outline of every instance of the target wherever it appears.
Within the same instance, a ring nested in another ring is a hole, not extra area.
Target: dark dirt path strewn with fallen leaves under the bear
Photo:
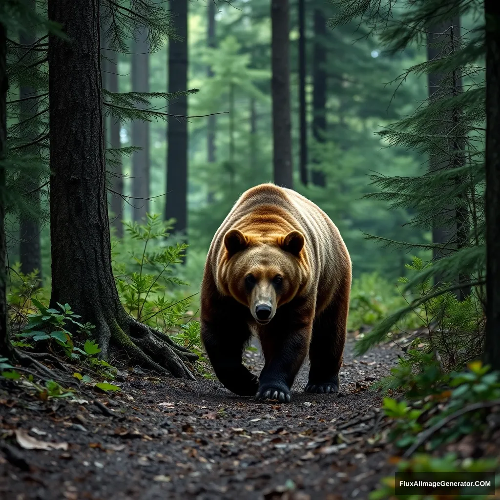
[[[367,498],[391,469],[384,440],[370,438],[384,420],[379,394],[366,387],[387,374],[397,347],[353,359],[352,344],[338,397],[302,392],[304,366],[290,404],[236,397],[216,380],[140,373],[124,377],[121,393],[81,403],[8,394],[0,385],[0,498]],[[256,370],[258,355],[248,353],[248,363]],[[68,447],[22,449],[19,428]]]

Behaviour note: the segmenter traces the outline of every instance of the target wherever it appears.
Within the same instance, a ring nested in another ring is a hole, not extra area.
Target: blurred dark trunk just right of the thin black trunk
[[[314,10],[314,48],[312,55],[312,135],[318,143],[326,140],[326,48],[324,46],[326,36],[326,19],[322,10]],[[318,159],[314,158],[314,163]],[[324,172],[312,168],[311,181],[314,185],[324,187],[326,177]]]

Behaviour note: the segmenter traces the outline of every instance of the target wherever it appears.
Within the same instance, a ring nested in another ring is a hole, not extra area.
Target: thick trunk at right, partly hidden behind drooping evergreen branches
[[[432,60],[444,54],[457,50],[459,47],[460,27],[459,18],[455,17],[447,22],[432,26],[427,32],[427,59]],[[460,72],[455,70],[446,74],[428,74],[429,101],[449,98],[462,91]],[[438,172],[443,169],[458,168],[465,164],[463,153],[464,132],[460,126],[458,110],[449,110],[449,116],[444,116],[435,130],[436,137],[440,137],[435,149],[429,157],[429,169]],[[457,178],[454,182],[460,182]],[[452,185],[449,188],[453,188]],[[443,217],[447,219],[443,224],[432,229],[432,242],[442,245],[433,249],[433,259],[437,260],[449,255],[466,244],[468,233],[467,208],[465,202],[460,206],[447,206],[443,209]],[[442,273],[434,275],[434,283],[441,283]],[[467,281],[467,276],[456,276],[456,280]],[[457,291],[458,298],[463,298],[470,292],[464,285]]]

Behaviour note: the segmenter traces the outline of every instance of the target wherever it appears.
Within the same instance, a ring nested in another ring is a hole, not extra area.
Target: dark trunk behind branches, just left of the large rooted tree
[[[30,0],[28,5],[29,8],[34,9],[34,1]],[[21,45],[30,45],[34,43],[34,36],[29,33],[26,34],[26,31],[22,30],[19,34],[19,41]],[[29,86],[21,86],[19,91],[19,97],[21,99],[26,97],[34,97],[36,95],[36,91],[34,88]],[[28,119],[30,116],[33,116],[38,107],[38,102],[36,98],[27,99],[21,101],[20,103],[20,120]],[[29,143],[35,139],[33,134],[25,137],[26,143]],[[37,148],[33,146],[33,150],[29,150],[26,152],[30,152],[36,154]],[[29,274],[33,272],[35,269],[38,270],[38,277],[41,280],[41,251],[40,251],[40,227],[36,220],[36,216],[40,211],[40,195],[37,190],[39,187],[38,182],[38,171],[30,170],[26,172],[26,176],[24,179],[24,190],[28,192],[27,196],[30,197],[30,208],[33,211],[31,216],[26,216],[26,214],[22,215],[19,221],[19,260],[21,263],[21,271],[24,274]]]

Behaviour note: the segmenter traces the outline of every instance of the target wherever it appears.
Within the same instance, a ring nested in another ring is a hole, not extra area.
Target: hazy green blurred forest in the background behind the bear
[[[220,114],[187,120],[187,165],[178,146],[172,151],[180,154],[172,157],[174,168],[187,168],[186,192],[176,193],[187,198],[187,227],[176,227],[185,230],[189,244],[186,265],[177,272],[190,283],[190,289],[184,290],[187,294],[197,291],[211,237],[236,198],[248,187],[272,180],[268,8],[268,2],[261,0],[188,2],[187,88],[199,91],[187,97],[187,113]],[[357,21],[333,30],[328,21],[335,7],[329,3],[307,1],[305,12],[307,185],[299,174],[298,17],[295,5],[290,8],[293,188],[318,203],[339,227],[351,253],[355,283],[359,279],[369,282],[365,287],[374,296],[381,292],[397,295],[388,283],[404,274],[410,255],[383,249],[363,233],[425,242],[430,232],[404,225],[411,215],[407,210],[388,209],[387,203],[363,198],[363,194],[376,190],[370,185],[372,173],[411,176],[423,171],[426,158],[403,147],[387,147],[388,142],[375,132],[410,115],[425,100],[426,75],[410,74],[400,85],[405,70],[425,60],[425,50],[415,45],[387,54],[368,27]],[[167,91],[168,40],[149,54],[141,34],[129,52],[117,54],[103,47],[103,87],[119,92]],[[151,102],[156,110],[166,112],[172,112],[175,105],[165,106],[160,99]],[[146,211],[175,217],[176,213],[165,212],[166,200],[173,197],[165,196],[166,131],[182,121],[117,124],[108,117],[107,147],[142,148],[108,165],[108,171],[114,170],[111,188],[123,195],[122,199],[110,194],[115,236],[123,233],[121,220],[140,221]],[[42,190],[42,207],[47,203]],[[117,208],[121,213],[113,213]],[[8,221],[8,258],[10,265],[20,259],[41,266],[43,284],[49,287],[49,224],[47,217],[40,221],[36,229],[28,228],[39,232],[40,257],[26,255],[38,251],[36,244],[19,245],[19,240],[27,239],[26,227],[19,227],[17,219]],[[126,237],[115,244],[115,259],[129,262],[131,244]]]

